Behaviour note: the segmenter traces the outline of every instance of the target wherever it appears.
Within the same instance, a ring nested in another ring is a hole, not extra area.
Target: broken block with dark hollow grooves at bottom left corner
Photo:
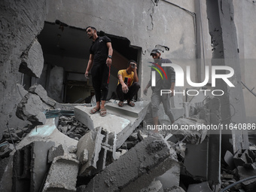
[[[39,191],[50,166],[47,152],[54,142],[32,142],[14,154],[12,191]]]

